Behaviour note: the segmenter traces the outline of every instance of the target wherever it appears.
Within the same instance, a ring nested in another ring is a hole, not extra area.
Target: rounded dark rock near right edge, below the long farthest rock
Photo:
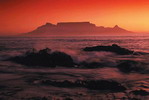
[[[132,60],[122,61],[117,65],[117,68],[123,73],[141,72],[144,70],[142,63]]]

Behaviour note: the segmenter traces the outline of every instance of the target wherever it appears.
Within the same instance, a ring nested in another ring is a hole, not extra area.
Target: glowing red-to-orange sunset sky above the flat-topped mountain
[[[117,24],[130,31],[149,32],[149,0],[0,0],[0,34],[65,21]]]

